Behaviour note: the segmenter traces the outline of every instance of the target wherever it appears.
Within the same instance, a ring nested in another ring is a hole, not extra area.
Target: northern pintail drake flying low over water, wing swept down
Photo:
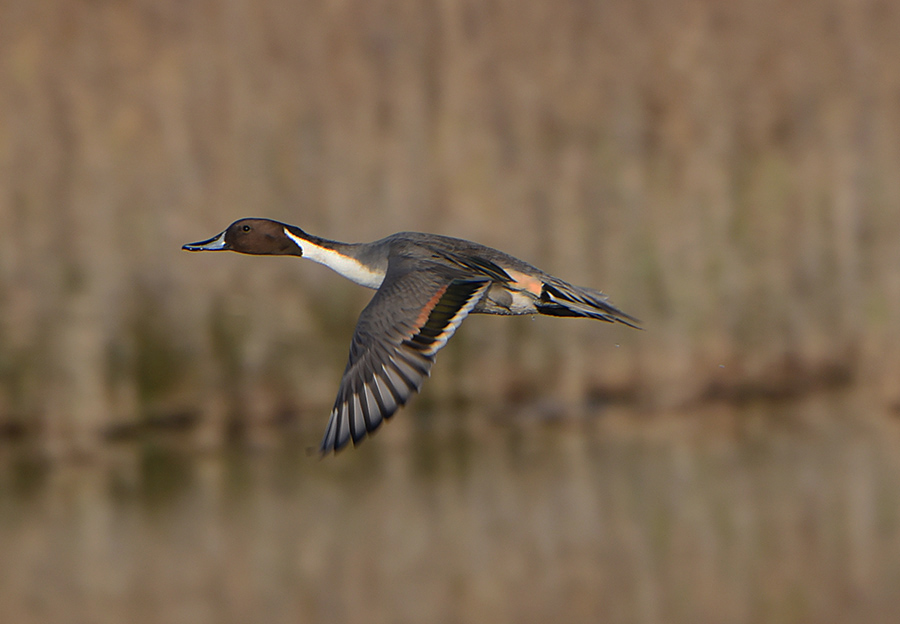
[[[600,291],[574,286],[502,251],[459,238],[399,232],[339,243],[270,219],[241,219],[188,251],[302,256],[377,292],[359,315],[321,453],[339,451],[393,416],[422,386],[435,354],[470,313],[639,321]]]

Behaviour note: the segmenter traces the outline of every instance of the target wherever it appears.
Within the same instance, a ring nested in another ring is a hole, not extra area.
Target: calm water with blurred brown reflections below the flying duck
[[[410,410],[325,461],[318,431],[0,447],[0,621],[891,621],[900,434],[863,405]]]

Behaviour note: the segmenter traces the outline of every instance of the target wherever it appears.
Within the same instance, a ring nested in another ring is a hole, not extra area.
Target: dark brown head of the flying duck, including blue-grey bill
[[[295,236],[306,237],[298,228],[271,219],[240,219],[209,240],[188,243],[187,251],[236,251],[267,256],[302,256],[303,250],[284,233],[290,228]]]

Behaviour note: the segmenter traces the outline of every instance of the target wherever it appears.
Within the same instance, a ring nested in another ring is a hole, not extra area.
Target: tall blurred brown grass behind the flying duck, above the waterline
[[[367,293],[179,251],[247,215],[476,239],[648,328],[472,319],[431,399],[896,399],[897,32],[874,0],[3,2],[0,416],[89,450],[327,409]]]

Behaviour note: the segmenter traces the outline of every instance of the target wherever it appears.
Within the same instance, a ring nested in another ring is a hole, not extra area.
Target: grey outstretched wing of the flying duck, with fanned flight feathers
[[[435,354],[481,300],[489,278],[445,265],[391,258],[384,282],[362,311],[350,360],[319,451],[358,444],[404,405],[431,372]]]

